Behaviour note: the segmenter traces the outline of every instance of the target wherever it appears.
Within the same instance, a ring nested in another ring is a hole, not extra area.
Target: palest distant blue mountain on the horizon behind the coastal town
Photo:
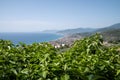
[[[93,32],[97,29],[94,28],[76,28],[76,29],[66,29],[62,31],[58,31],[57,33],[60,34],[75,34],[75,33],[86,33],[86,32]]]

